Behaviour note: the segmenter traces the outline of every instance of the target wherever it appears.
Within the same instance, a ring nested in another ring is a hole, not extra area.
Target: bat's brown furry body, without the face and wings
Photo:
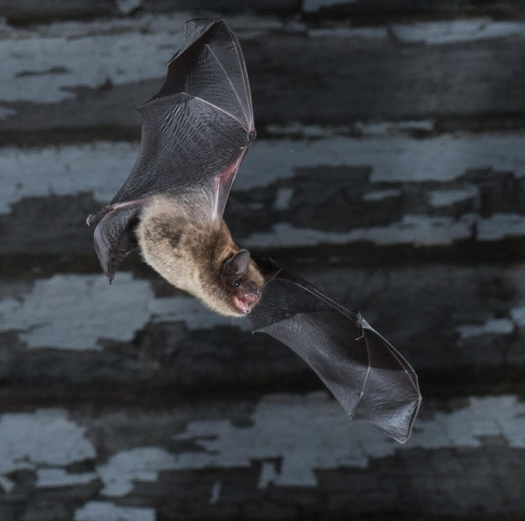
[[[144,205],[137,230],[142,256],[168,282],[226,316],[242,316],[232,293],[221,283],[224,263],[240,249],[226,223],[203,208],[213,208],[205,194],[153,196]],[[260,288],[262,275],[250,260],[247,276]]]

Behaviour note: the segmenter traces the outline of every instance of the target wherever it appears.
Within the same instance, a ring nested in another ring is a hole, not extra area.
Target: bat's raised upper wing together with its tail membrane
[[[237,38],[222,19],[187,22],[166,81],[139,107],[142,140],[128,179],[95,232],[110,281],[135,246],[131,228],[149,196],[198,188],[213,204],[203,214],[220,223],[237,169],[255,138],[248,76]]]

